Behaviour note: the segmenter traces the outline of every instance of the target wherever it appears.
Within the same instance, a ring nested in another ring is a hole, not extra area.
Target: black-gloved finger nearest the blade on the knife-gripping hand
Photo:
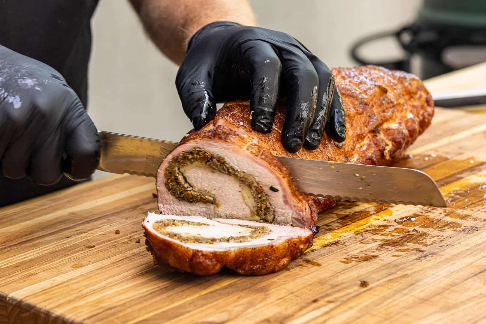
[[[101,141],[93,121],[81,107],[69,116],[63,171],[71,180],[87,179],[98,166]]]

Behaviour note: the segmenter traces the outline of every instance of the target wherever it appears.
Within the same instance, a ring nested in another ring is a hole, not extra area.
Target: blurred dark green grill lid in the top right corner
[[[424,0],[418,12],[418,22],[486,29],[486,0]]]

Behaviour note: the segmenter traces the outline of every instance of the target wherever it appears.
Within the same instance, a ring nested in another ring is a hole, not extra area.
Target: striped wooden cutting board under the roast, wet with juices
[[[429,84],[484,76],[486,64]],[[2,208],[0,322],[486,322],[486,116],[437,109],[407,154],[399,166],[430,174],[448,208],[340,203],[311,249],[266,276],[155,267],[141,228],[154,179]]]

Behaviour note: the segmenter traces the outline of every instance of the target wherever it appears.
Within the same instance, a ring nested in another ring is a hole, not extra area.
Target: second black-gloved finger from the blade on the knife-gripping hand
[[[36,184],[49,186],[63,175],[63,135],[52,134],[31,157],[28,175]]]

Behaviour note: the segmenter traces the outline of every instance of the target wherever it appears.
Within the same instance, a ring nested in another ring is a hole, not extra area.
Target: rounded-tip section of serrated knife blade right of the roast
[[[278,158],[291,174],[296,175],[294,181],[299,191],[314,197],[368,203],[447,206],[435,181],[415,169],[283,156]]]

